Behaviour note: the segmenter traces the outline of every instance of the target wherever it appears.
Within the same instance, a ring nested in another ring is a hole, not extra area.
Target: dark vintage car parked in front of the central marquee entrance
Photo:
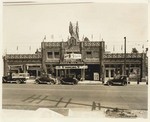
[[[67,75],[66,77],[62,77],[60,79],[61,84],[66,84],[66,85],[74,85],[78,84],[79,80],[74,77],[74,75]]]

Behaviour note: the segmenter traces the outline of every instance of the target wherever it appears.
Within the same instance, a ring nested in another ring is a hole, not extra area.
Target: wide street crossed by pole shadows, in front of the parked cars
[[[148,109],[148,86],[3,84],[4,109],[89,108]]]

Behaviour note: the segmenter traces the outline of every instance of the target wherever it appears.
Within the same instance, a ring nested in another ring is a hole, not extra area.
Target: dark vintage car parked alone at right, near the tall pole
[[[117,75],[115,78],[113,79],[109,79],[107,82],[106,82],[107,85],[114,85],[114,84],[118,84],[118,85],[122,85],[122,86],[125,86],[128,84],[127,82],[127,76],[125,75]]]

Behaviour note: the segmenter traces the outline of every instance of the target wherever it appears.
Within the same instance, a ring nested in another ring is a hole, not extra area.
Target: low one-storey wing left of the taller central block
[[[9,72],[29,73],[35,78],[41,75],[41,53],[35,54],[6,54],[3,57],[3,75]]]

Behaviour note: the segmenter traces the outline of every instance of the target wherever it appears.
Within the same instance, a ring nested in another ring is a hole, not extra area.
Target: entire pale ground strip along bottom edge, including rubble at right
[[[55,109],[57,109],[55,111]],[[99,118],[99,119],[104,119],[104,118],[116,118],[117,115],[108,116],[107,115],[107,110],[108,109],[101,109],[101,110],[93,110],[91,111],[90,109],[87,108],[39,108],[37,110],[12,110],[12,109],[2,109],[2,120],[7,120],[7,119],[22,119],[22,118],[30,118],[30,119],[53,119],[53,118],[84,118],[84,119],[91,119],[91,118]],[[67,115],[63,115],[62,111],[65,113],[67,112]],[[114,111],[115,112],[115,111]],[[125,112],[125,111],[124,111]],[[124,113],[123,112],[123,113]],[[148,117],[148,111],[146,110],[129,110],[126,111],[126,113],[129,115],[134,114],[136,117],[134,118],[143,118],[146,119]],[[123,116],[123,114],[122,114]],[[118,117],[119,118],[119,117]],[[122,118],[122,117],[120,117]],[[126,117],[124,118],[131,118],[131,117]],[[131,118],[133,119],[133,118]]]

